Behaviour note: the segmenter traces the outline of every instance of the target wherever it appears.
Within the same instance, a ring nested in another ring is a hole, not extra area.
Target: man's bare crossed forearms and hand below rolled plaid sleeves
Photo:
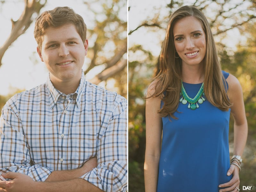
[[[98,187],[79,178],[96,166],[97,158],[93,157],[79,169],[53,171],[45,182],[34,181],[31,177],[22,173],[4,173],[2,176],[10,180],[0,181],[0,192],[102,192]]]

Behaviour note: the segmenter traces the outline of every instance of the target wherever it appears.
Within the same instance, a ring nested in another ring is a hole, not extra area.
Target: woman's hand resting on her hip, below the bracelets
[[[227,182],[220,184],[219,187],[227,187],[224,189],[220,189],[220,192],[237,192],[239,191],[237,188],[239,188],[240,180],[239,180],[239,168],[236,165],[230,165],[228,169],[227,175],[233,175],[233,178]]]

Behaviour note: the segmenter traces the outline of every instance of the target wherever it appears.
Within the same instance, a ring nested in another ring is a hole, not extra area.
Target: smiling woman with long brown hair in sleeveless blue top
[[[202,12],[184,6],[172,14],[159,62],[146,100],[146,192],[239,191],[248,129],[242,88],[236,77],[221,71]],[[235,122],[231,160],[230,113]]]

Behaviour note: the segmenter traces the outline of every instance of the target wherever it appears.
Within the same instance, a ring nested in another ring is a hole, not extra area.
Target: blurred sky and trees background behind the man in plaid
[[[1,0],[0,111],[15,93],[46,81],[33,32],[38,15],[57,6],[74,9],[87,25],[86,80],[127,98],[127,0]]]

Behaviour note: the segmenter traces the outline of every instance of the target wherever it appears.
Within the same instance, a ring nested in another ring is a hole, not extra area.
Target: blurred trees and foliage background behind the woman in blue
[[[222,69],[234,74],[242,85],[249,134],[240,172],[240,188],[256,186],[256,1],[129,0],[129,191],[145,191],[143,96],[156,73],[169,16],[183,5],[194,5],[204,13],[214,34]],[[233,123],[231,118],[229,134],[231,156]]]

